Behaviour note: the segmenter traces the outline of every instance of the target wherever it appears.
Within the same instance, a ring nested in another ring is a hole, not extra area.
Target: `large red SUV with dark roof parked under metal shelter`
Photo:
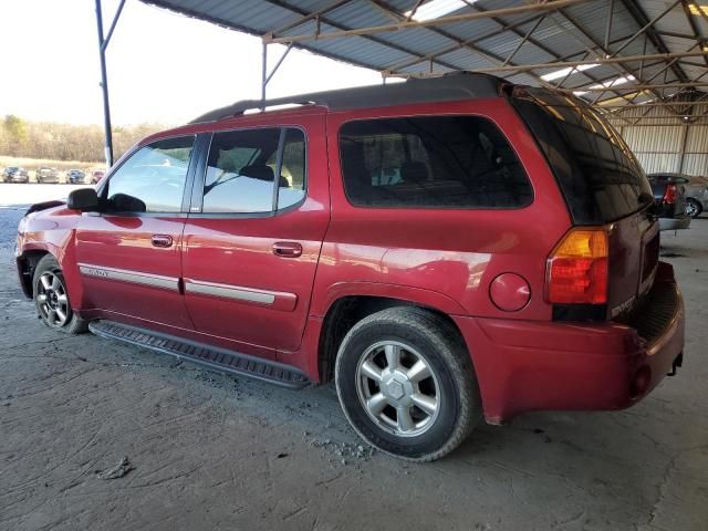
[[[589,106],[459,74],[241,102],[30,209],[44,323],[289,386],[334,379],[377,448],[483,416],[631,406],[680,365],[649,184]]]

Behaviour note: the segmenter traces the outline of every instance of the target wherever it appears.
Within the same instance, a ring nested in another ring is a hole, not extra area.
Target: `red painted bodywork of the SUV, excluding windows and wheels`
[[[410,114],[470,114],[497,123],[525,167],[533,202],[511,210],[351,206],[341,179],[340,126]],[[116,219],[58,207],[27,220],[20,248],[58,257],[72,303],[86,317],[152,326],[277,358],[315,382],[323,320],[339,299],[385,296],[435,309],[460,329],[491,421],[532,409],[626,407],[633,403],[628,393],[635,372],[650,366],[650,389],[681,351],[683,313],[652,351],[627,326],[551,321],[552,306],[543,298],[546,259],[571,220],[545,159],[503,98],[339,113],[303,107],[189,125],[140,145],[186,133],[285,125],[300,126],[308,136],[308,199],[292,211],[251,219]],[[655,230],[638,216],[610,227],[608,309],[636,295],[642,241]],[[154,233],[170,236],[173,247],[152,247]],[[277,256],[277,242],[300,243],[302,254]],[[281,296],[267,306],[110,285],[80,277],[80,261]],[[673,273],[664,271],[660,281],[674,282]]]

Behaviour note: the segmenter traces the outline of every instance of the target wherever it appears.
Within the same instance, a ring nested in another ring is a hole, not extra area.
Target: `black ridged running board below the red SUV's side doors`
[[[250,376],[284,387],[299,388],[310,383],[304,374],[281,363],[195,343],[171,335],[138,329],[137,326],[129,326],[114,321],[92,321],[88,324],[88,330],[101,337],[131,343],[164,354],[171,354],[180,360],[216,371]]]

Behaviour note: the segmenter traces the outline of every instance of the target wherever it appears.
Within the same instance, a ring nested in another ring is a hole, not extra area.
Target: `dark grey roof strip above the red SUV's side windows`
[[[404,83],[361,86],[279,97],[267,100],[264,105],[260,100],[243,100],[233,105],[216,108],[202,114],[191,121],[191,123],[216,122],[218,119],[241,115],[244,111],[252,108],[288,104],[322,105],[330,111],[348,111],[410,103],[455,102],[479,97],[494,97],[500,94],[500,87],[503,83],[508,82],[493,75],[462,72],[440,77],[409,79]]]

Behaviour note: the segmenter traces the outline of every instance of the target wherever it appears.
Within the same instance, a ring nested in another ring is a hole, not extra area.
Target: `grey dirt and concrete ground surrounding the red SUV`
[[[707,529],[708,219],[664,237],[688,313],[677,377],[626,412],[480,426],[417,466],[372,454],[331,386],[45,329],[14,275],[20,215],[0,209],[2,530]],[[127,475],[96,475],[124,456]]]

